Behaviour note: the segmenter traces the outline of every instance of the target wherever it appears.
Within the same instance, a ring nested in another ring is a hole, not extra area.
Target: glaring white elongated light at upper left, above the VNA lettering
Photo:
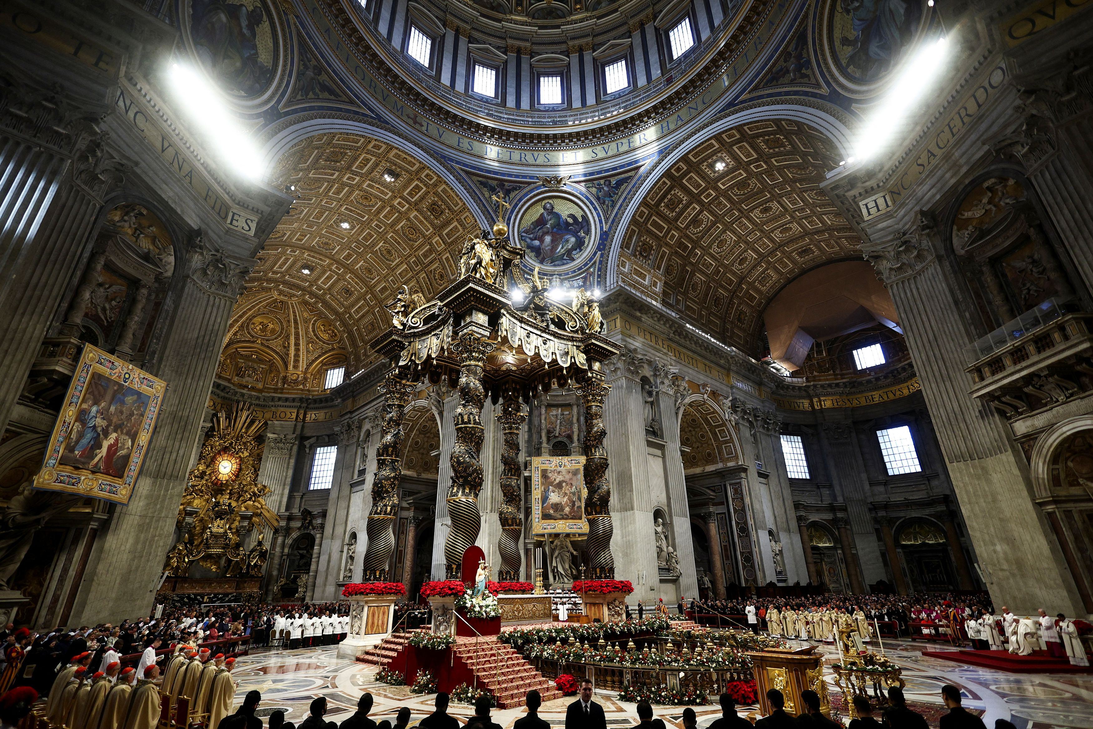
[[[257,179],[262,174],[262,160],[250,136],[221,101],[220,92],[200,73],[181,63],[172,63],[171,80],[189,118],[204,132],[220,156],[228,161],[240,175]]]

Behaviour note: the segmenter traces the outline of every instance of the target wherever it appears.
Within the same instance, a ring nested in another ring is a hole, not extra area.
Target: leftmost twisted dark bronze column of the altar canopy
[[[386,583],[391,552],[395,551],[395,519],[399,513],[399,480],[402,478],[402,416],[413,397],[414,384],[402,379],[404,372],[392,369],[384,378],[384,425],[376,447],[376,475],[372,481],[372,509],[365,533],[362,579]]]

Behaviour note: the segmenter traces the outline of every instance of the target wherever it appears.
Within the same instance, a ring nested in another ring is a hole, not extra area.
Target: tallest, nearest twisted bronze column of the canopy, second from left
[[[461,361],[459,368],[459,408],[456,410],[456,444],[451,448],[451,485],[448,486],[448,514],[451,529],[444,542],[445,577],[459,579],[463,552],[472,546],[482,527],[478,495],[482,491],[482,367],[493,343],[465,333],[453,342],[451,351]]]

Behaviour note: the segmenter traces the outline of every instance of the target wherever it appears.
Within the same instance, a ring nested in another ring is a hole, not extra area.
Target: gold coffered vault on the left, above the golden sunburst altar
[[[367,342],[390,325],[383,305],[402,284],[436,294],[478,226],[421,160],[357,134],[297,142],[271,179],[295,186],[297,199],[247,279],[219,374],[258,389],[318,390],[328,366],[346,363],[348,377],[376,358]]]

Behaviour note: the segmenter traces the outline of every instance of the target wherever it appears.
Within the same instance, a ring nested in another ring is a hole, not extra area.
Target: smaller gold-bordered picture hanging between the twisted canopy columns
[[[531,459],[531,533],[588,533],[584,456]]]

